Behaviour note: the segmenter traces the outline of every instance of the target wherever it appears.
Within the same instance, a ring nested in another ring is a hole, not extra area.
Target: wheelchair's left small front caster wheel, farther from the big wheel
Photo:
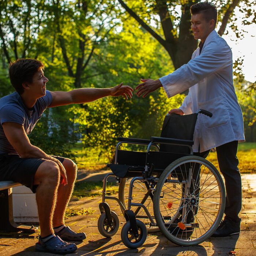
[[[111,211],[111,217],[113,223],[109,223],[106,217],[106,212],[102,212],[98,219],[98,230],[99,233],[104,237],[112,237],[116,234],[119,227],[119,219],[116,212]]]

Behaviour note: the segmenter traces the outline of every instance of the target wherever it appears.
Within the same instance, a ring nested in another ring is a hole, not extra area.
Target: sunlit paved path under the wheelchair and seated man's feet
[[[80,180],[96,181],[102,180],[102,173],[94,175],[79,174]],[[210,238],[197,246],[182,247],[177,246],[167,240],[160,232],[148,235],[146,242],[141,248],[128,249],[121,242],[121,227],[125,223],[119,207],[115,202],[110,201],[110,208],[117,212],[120,219],[120,228],[112,238],[102,237],[97,228],[99,217],[98,204],[101,197],[85,197],[79,200],[71,200],[69,208],[95,210],[91,215],[74,216],[67,219],[68,224],[76,231],[84,231],[87,239],[78,245],[78,250],[70,255],[231,255],[230,251],[235,251],[235,255],[253,256],[256,255],[256,174],[242,175],[243,201],[240,217],[240,236],[230,236],[225,238]],[[38,236],[38,235],[37,235]],[[54,255],[51,253],[40,253],[35,251],[37,236],[26,236],[22,234],[0,234],[0,255]]]

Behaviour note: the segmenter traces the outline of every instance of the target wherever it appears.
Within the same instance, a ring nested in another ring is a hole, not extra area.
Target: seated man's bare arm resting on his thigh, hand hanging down
[[[43,158],[57,163],[60,169],[61,183],[64,185],[67,184],[66,171],[62,163],[58,159],[47,155],[39,147],[33,146],[30,143],[23,125],[6,122],[2,124],[2,127],[6,138],[21,158]]]

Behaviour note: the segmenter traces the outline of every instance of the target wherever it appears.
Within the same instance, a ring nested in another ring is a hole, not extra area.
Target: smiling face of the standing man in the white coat
[[[211,31],[214,30],[214,20],[212,19],[207,22],[203,13],[192,14],[191,29],[193,31],[194,38],[200,39],[204,42]]]

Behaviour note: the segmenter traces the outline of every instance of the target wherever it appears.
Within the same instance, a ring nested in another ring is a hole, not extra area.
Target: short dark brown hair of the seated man
[[[32,83],[34,74],[44,67],[41,61],[34,59],[18,59],[12,62],[9,67],[9,77],[17,93],[22,94],[24,91],[22,83]]]

